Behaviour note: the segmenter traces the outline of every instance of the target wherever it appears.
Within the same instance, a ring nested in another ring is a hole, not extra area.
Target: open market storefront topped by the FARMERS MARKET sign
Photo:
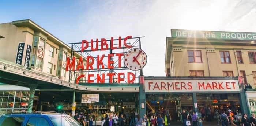
[[[146,113],[169,109],[173,121],[182,110],[209,111],[211,119],[215,110],[244,113],[240,88],[236,77],[144,77]]]

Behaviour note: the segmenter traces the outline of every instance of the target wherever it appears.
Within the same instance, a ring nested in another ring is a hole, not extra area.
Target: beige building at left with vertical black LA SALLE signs
[[[30,19],[0,24],[0,43],[1,59],[69,81],[69,72],[65,69],[71,48]],[[76,52],[74,55],[81,56]],[[78,59],[76,65],[77,62]],[[80,74],[76,73],[76,77]],[[73,82],[74,76],[71,72]]]

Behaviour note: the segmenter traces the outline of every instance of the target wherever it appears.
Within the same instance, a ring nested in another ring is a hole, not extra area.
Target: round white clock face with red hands
[[[141,49],[131,49],[124,55],[124,64],[130,70],[140,70],[147,63],[147,55]]]

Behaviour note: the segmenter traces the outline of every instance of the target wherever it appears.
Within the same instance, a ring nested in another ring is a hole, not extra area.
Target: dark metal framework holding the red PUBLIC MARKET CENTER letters
[[[144,37],[144,36],[143,36]],[[123,53],[125,54],[128,50],[130,49],[133,49],[133,48],[139,48],[141,49],[141,38],[143,37],[132,37],[132,38],[129,38],[127,40],[127,43],[129,46],[132,46],[131,48],[127,48],[126,46],[124,46],[124,43],[120,43],[120,40],[124,40],[125,38],[121,38],[121,39],[113,39],[113,43],[112,43],[112,40],[106,40],[107,44],[108,44],[108,49],[107,50],[101,50],[101,41],[98,41],[98,47],[96,47],[97,44],[96,41],[88,41],[88,48],[83,50],[83,52],[81,51],[82,49],[82,42],[74,42],[74,43],[69,43],[71,44],[71,57],[70,57],[70,61],[72,60],[72,58],[74,57],[74,52],[78,52],[79,54],[81,54],[83,56],[83,59],[85,59],[84,57],[87,57],[87,56],[92,56],[94,61],[97,61],[98,57],[96,57],[97,55],[100,55],[100,58],[102,57],[103,54],[117,54],[117,53]],[[93,43],[91,43],[93,42]],[[117,48],[117,49],[112,49],[110,48],[111,45],[113,44],[113,46],[118,46],[121,47],[121,48]],[[120,45],[121,44],[121,45]],[[91,47],[91,45],[93,45],[93,47]],[[91,50],[91,48],[97,48],[97,50]],[[106,72],[109,72],[109,73],[118,73],[118,72],[132,72],[135,74],[135,83],[138,83],[139,82],[139,76],[143,75],[143,71],[142,69],[138,70],[138,71],[132,71],[132,70],[129,70],[125,64],[124,64],[124,56],[121,57],[121,64],[122,66],[121,67],[118,67],[118,58],[116,60],[116,55],[110,57],[110,61],[114,61],[114,64],[112,64],[114,66],[113,69],[108,69],[108,65],[105,64],[104,62],[106,62],[106,59],[103,60],[103,65],[105,66],[105,68],[99,68],[99,69],[89,69],[89,70],[74,70],[74,73],[71,72],[71,70],[69,70],[69,82],[76,82],[76,73],[97,73],[97,74],[100,74],[100,76],[102,76],[103,73],[106,73]],[[79,59],[79,58],[76,58],[76,60]],[[97,68],[95,67],[95,65],[93,66],[93,68]],[[72,80],[72,74],[74,75],[74,80]],[[105,82],[110,82],[110,78],[108,76],[105,75]],[[124,78],[124,79],[127,79],[128,77],[123,75],[123,77],[121,78]],[[117,83],[117,81],[115,81],[116,77],[113,77],[112,78],[112,82],[113,83]],[[96,80],[96,78],[94,77],[93,79],[94,81]],[[87,82],[87,79],[84,79],[84,80],[79,80],[79,82],[81,81],[85,81]],[[127,83],[127,81],[124,81],[123,83]]]

